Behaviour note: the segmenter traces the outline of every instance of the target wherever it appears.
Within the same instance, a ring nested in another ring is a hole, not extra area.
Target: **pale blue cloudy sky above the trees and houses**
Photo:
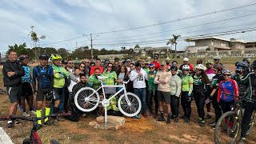
[[[255,29],[255,8],[254,0],[2,0],[0,52],[15,43],[30,48],[30,26],[46,36],[38,42],[42,47],[90,47],[90,34],[98,50],[166,46],[179,34],[177,49],[184,50],[184,38]],[[218,37],[249,42],[255,36],[248,31]]]

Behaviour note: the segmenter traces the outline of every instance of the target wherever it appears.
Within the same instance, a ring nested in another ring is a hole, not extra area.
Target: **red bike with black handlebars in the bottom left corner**
[[[41,118],[30,118],[30,117],[24,117],[24,116],[14,116],[14,115],[10,115],[10,116],[2,116],[0,117],[0,120],[16,120],[16,119],[22,119],[25,121],[30,121],[33,123],[32,125],[32,129],[30,131],[30,137],[27,137],[23,140],[23,144],[42,144],[41,139],[38,136],[37,133],[37,126],[38,126],[38,120],[42,120],[45,118],[57,118],[60,115],[69,115],[70,113],[65,113],[65,114],[52,114],[52,115],[48,115],[48,116],[44,116]],[[56,140],[52,139],[50,140],[50,144],[59,144],[59,142],[57,142]]]

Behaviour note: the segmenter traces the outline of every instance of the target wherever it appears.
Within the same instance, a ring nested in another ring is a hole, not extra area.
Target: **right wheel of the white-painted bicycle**
[[[126,102],[125,94],[122,94],[120,96],[120,98],[118,99],[118,109],[122,112],[122,114],[126,115],[127,117],[134,117],[141,111],[142,102],[136,94],[128,92],[128,93],[126,93],[126,95],[127,95],[128,99],[130,100],[130,102],[133,102],[132,106],[136,105],[135,107],[130,107],[130,108],[135,109],[134,112],[130,113],[130,112],[127,112],[127,110],[123,109],[123,106],[125,106],[123,103]],[[123,102],[123,101],[125,101],[125,102]]]

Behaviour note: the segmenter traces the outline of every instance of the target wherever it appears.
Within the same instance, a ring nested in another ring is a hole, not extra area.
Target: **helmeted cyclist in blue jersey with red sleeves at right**
[[[231,70],[224,70],[222,73],[224,80],[219,83],[217,101],[222,106],[223,114],[231,110],[231,105],[237,100],[239,95],[238,83],[231,78]]]

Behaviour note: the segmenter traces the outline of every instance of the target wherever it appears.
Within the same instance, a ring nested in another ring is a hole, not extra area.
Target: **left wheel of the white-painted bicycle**
[[[75,106],[84,112],[95,110],[98,106],[99,94],[91,87],[83,87],[74,96]]]

